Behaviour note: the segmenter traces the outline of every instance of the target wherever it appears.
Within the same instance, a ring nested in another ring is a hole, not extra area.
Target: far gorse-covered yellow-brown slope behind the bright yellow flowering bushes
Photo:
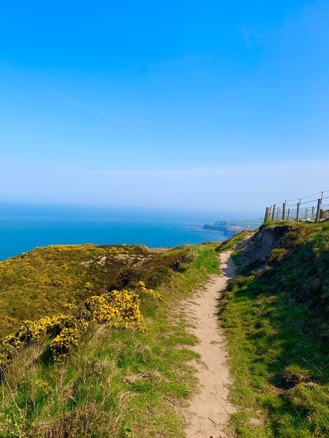
[[[106,290],[120,269],[148,256],[141,245],[54,245],[0,262],[0,337]]]

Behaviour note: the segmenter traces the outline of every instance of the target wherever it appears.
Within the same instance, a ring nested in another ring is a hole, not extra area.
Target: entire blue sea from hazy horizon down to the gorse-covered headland
[[[94,211],[90,209],[0,205],[0,260],[38,246],[94,243],[175,247],[223,241],[223,232],[203,229],[207,218],[183,213]],[[217,218],[209,218],[214,222]]]

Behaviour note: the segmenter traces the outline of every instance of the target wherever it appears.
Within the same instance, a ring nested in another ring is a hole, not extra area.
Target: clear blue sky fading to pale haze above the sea
[[[262,212],[329,190],[329,2],[2,1],[0,202]]]

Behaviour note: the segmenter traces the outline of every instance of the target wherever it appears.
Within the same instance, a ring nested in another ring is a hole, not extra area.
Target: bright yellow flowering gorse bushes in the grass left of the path
[[[81,334],[89,325],[88,321],[145,333],[147,327],[139,307],[142,295],[162,299],[160,293],[147,289],[140,281],[134,291],[112,290],[95,295],[85,301],[82,309],[73,304],[66,304],[64,307],[71,312],[69,315],[60,314],[24,321],[16,334],[9,334],[3,338],[0,344],[0,366],[13,358],[20,348],[45,336],[52,339],[50,350],[54,360],[66,358],[72,348],[78,346]]]

